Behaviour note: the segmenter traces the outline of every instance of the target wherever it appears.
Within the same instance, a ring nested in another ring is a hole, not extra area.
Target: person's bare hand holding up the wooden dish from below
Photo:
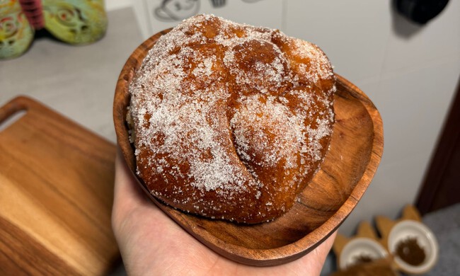
[[[122,161],[115,161],[112,226],[128,275],[319,275],[335,234],[298,260],[258,268],[214,253],[149,200]]]

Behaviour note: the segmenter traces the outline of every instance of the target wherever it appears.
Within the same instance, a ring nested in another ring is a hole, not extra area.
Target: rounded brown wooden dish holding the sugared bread
[[[137,47],[122,68],[115,89],[113,116],[117,142],[131,171],[134,148],[126,120],[128,87],[149,49],[164,30]],[[335,125],[330,149],[294,207],[272,222],[246,225],[198,217],[163,205],[139,185],[163,212],[192,236],[226,258],[247,265],[280,265],[300,258],[326,240],[357,205],[379,165],[383,127],[379,112],[359,88],[337,75]],[[135,175],[135,173],[134,173]]]

